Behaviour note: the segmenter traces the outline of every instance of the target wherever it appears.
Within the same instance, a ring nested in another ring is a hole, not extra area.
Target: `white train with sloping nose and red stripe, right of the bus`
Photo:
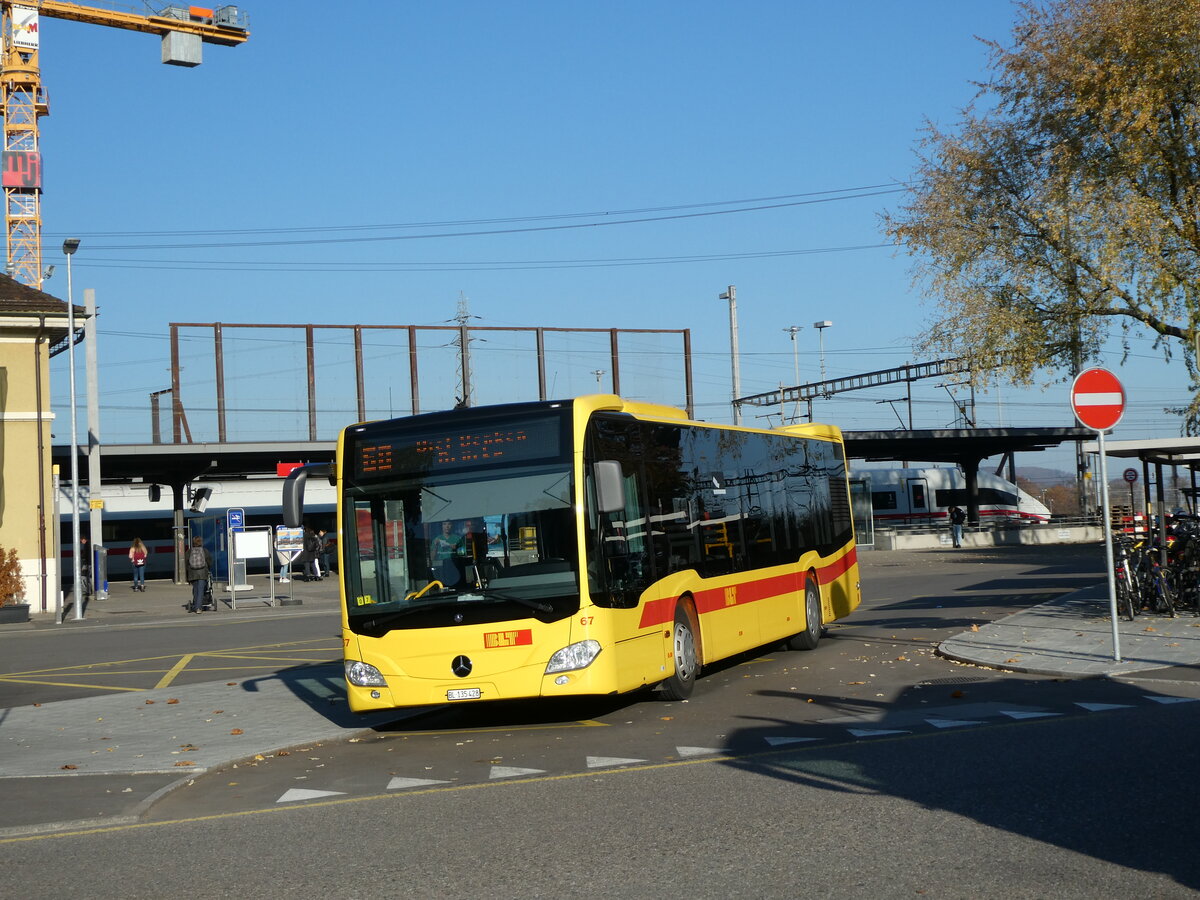
[[[868,480],[876,524],[940,524],[950,506],[967,509],[967,481],[960,469],[860,469],[856,479]],[[1009,520],[1046,522],[1050,510],[1012,481],[980,472],[979,521]]]

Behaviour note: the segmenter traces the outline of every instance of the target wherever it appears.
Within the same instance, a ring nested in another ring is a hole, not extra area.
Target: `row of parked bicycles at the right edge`
[[[1165,534],[1164,534],[1165,530]],[[1200,616],[1200,518],[1172,516],[1165,529],[1146,534],[1112,532],[1117,612]]]

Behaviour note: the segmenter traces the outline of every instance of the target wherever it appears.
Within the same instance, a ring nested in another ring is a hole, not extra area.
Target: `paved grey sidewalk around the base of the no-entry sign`
[[[1200,617],[1118,619],[1121,661],[1112,653],[1108,587],[1064,594],[942,641],[938,653],[989,668],[1067,678],[1116,677],[1200,665]]]

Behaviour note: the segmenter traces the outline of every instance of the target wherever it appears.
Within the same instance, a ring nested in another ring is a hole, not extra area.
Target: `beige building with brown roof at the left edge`
[[[74,313],[82,335],[83,307]],[[55,608],[49,362],[66,349],[66,302],[0,275],[0,547],[17,550],[31,613]]]

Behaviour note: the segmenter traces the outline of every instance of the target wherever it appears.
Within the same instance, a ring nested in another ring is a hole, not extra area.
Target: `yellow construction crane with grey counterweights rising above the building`
[[[149,8],[149,6],[148,6]],[[7,269],[10,276],[42,287],[42,155],[37,120],[50,103],[38,68],[38,20],[42,16],[91,25],[144,31],[162,37],[162,61],[200,65],[202,44],[235,47],[250,37],[246,16],[236,6],[215,10],[169,5],[157,12],[107,10],[61,0],[0,0],[4,49],[0,58],[0,118],[4,119],[4,184]]]

